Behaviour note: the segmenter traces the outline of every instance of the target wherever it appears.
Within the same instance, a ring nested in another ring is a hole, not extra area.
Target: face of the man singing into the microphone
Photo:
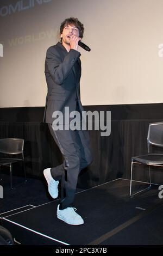
[[[79,37],[79,29],[73,25],[66,25],[60,34],[60,38],[62,38],[62,44],[70,45],[70,38],[72,35],[76,35]]]

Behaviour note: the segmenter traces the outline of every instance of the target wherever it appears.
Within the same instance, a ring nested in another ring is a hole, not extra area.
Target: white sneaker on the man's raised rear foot
[[[51,174],[51,168],[43,170],[43,175],[48,183],[48,191],[54,199],[58,197],[58,180],[54,180]]]

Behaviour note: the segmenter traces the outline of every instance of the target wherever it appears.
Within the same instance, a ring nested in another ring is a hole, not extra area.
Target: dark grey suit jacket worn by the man
[[[60,42],[48,48],[45,61],[48,92],[43,118],[46,123],[53,123],[54,111],[61,111],[64,115],[65,106],[70,108],[70,112],[76,110],[77,101],[79,110],[83,111],[80,101],[81,62],[79,57],[78,51],[71,49],[67,52]]]

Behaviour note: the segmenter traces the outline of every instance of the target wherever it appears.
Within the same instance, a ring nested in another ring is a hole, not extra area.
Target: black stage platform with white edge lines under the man
[[[142,188],[135,182],[135,188]],[[117,179],[78,192],[74,206],[84,225],[58,220],[59,200],[27,205],[0,215],[2,225],[22,245],[163,245],[163,199],[153,186],[132,199],[129,180]]]

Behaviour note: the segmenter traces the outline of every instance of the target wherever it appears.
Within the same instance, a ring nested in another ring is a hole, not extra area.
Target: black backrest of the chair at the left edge
[[[4,154],[16,155],[23,153],[24,139],[5,138],[0,139],[0,152]]]

